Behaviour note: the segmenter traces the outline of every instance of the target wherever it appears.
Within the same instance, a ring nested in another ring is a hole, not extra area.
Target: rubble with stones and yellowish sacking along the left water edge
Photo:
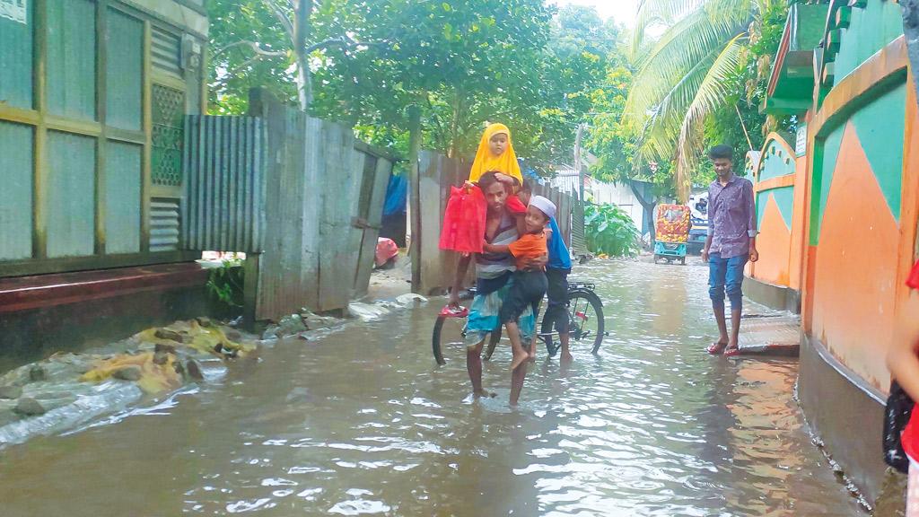
[[[55,353],[0,375],[0,447],[175,392],[255,350],[238,330],[198,318],[85,353]]]

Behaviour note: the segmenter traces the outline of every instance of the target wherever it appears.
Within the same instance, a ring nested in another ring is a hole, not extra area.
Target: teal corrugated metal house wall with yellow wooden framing
[[[0,277],[171,262],[198,2],[45,0],[0,17]],[[197,52],[196,52],[197,51]]]

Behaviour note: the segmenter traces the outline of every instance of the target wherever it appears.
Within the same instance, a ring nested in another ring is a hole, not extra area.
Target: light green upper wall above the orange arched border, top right
[[[834,85],[902,34],[903,18],[895,2],[868,0],[865,7],[853,7],[852,22],[848,29],[842,29]]]

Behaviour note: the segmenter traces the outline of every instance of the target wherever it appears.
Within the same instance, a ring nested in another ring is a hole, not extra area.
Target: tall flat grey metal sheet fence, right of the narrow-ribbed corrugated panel
[[[343,309],[368,289],[392,160],[267,92],[249,104],[267,156],[265,252],[246,260],[249,315]]]

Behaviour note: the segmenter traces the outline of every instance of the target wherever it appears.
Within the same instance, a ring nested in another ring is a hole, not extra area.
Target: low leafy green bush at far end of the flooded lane
[[[613,204],[584,207],[587,249],[610,257],[634,257],[639,252],[639,231],[624,210]]]

